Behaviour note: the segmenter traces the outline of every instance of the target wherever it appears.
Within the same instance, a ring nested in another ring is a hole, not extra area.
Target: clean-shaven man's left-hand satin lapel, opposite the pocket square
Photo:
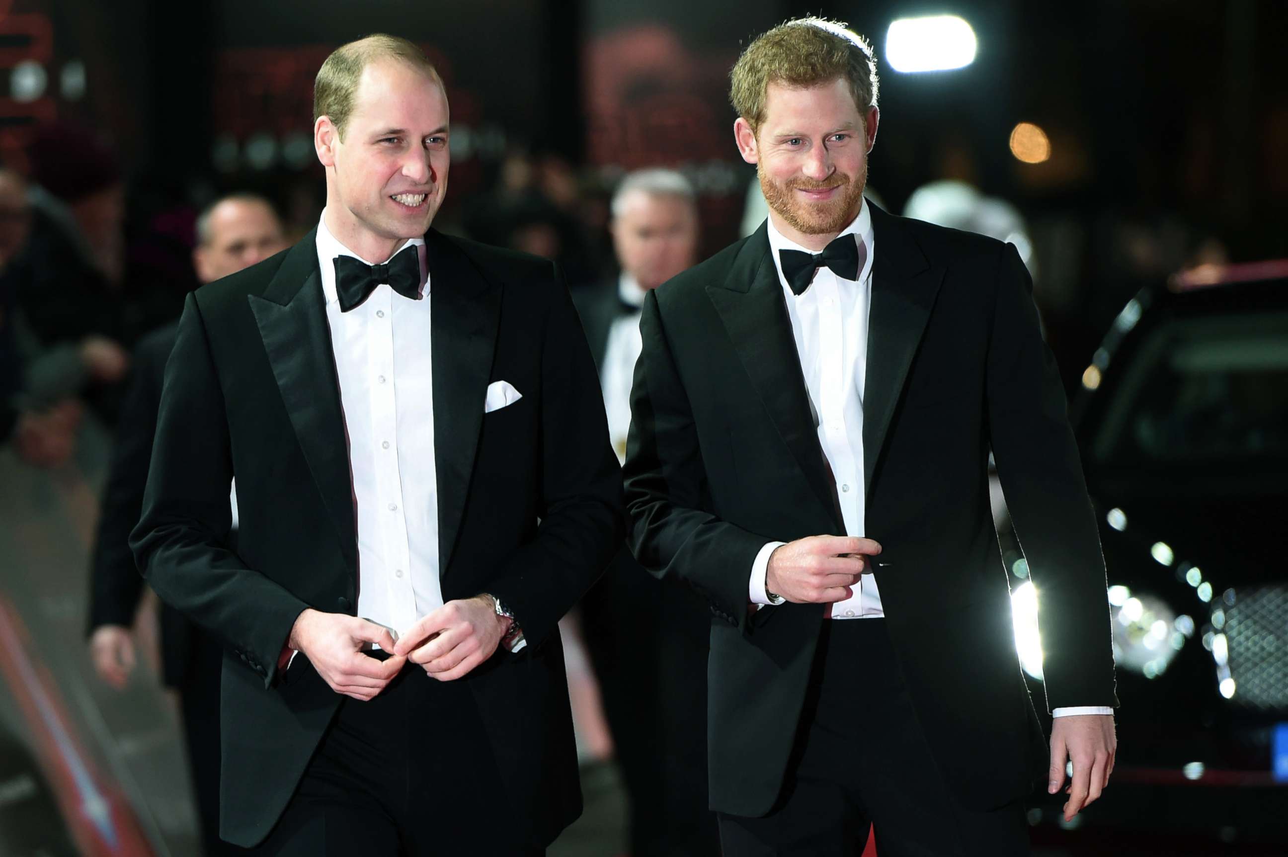
[[[247,300],[295,437],[340,536],[345,562],[357,572],[349,441],[326,320],[316,229],[295,245],[264,295],[247,295]]]

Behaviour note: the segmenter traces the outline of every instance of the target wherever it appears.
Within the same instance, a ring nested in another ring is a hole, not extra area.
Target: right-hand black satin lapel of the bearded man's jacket
[[[863,396],[863,479],[871,492],[886,430],[939,295],[944,267],[926,262],[917,242],[896,218],[871,202],[864,205],[872,207],[876,244]]]

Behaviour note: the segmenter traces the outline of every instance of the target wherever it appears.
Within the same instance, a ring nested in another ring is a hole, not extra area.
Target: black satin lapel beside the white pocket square
[[[496,354],[500,284],[439,232],[425,235],[430,351],[434,362],[434,467],[438,472],[438,567],[447,572],[469,496]]]

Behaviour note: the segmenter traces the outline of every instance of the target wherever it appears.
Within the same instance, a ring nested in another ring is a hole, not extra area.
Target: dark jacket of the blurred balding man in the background
[[[143,595],[143,579],[130,552],[130,530],[143,510],[143,490],[152,460],[157,409],[165,363],[174,348],[178,323],[152,331],[139,340],[131,361],[131,379],[112,443],[112,467],[103,490],[103,501],[94,539],[90,567],[89,633],[102,625],[134,624]],[[161,607],[161,678],[170,687],[183,684],[191,668],[192,626],[183,613],[169,604]]]

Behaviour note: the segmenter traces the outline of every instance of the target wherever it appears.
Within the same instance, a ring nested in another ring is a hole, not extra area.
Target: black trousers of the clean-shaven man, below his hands
[[[251,853],[544,854],[515,842],[507,812],[470,688],[408,664],[376,698],[340,704],[282,818]]]

